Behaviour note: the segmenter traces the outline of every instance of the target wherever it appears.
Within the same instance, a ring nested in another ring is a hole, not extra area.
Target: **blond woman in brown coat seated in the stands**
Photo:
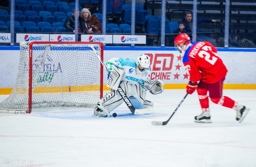
[[[80,16],[83,18],[83,25],[85,28],[85,34],[102,33],[101,23],[98,20],[96,14],[92,16],[91,12],[84,8],[80,12]]]

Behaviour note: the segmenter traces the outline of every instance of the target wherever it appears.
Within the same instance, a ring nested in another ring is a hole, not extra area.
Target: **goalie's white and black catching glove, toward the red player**
[[[156,80],[146,80],[144,82],[144,88],[148,90],[153,95],[158,93],[162,93],[164,91],[164,82],[156,79]]]

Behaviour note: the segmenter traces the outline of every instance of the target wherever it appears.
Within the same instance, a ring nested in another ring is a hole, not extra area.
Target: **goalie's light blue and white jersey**
[[[136,73],[136,63],[134,58],[112,58],[107,62],[108,71],[112,71],[112,67],[116,66],[124,71],[121,81],[129,81],[131,85],[139,82],[142,86],[144,80],[149,80],[150,68]]]

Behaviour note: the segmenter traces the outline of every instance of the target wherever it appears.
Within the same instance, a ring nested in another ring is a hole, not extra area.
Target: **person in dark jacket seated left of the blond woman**
[[[78,10],[79,16],[80,10]],[[69,32],[75,33],[75,9],[72,11],[72,16],[68,16],[67,20],[64,23],[64,27],[67,28]],[[85,33],[83,19],[81,17],[78,18],[78,32]]]

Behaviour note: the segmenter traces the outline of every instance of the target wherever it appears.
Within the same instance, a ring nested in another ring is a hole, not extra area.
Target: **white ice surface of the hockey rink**
[[[185,89],[148,93],[152,114],[133,115],[125,104],[109,118],[75,107],[0,113],[0,166],[254,167],[256,90],[224,89],[223,95],[251,108],[242,123],[235,110],[212,102],[212,123],[195,123],[194,116],[201,114],[195,92],[166,126],[151,125],[169,118]],[[6,97],[1,95],[0,101]]]

